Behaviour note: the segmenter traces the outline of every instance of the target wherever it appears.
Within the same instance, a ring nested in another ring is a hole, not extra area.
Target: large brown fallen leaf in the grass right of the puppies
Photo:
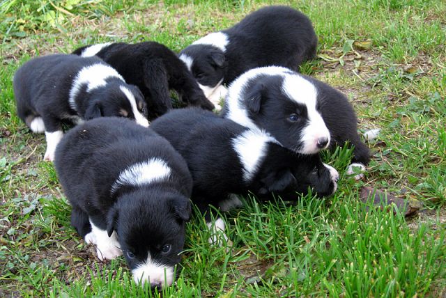
[[[373,199],[374,206],[383,209],[385,205],[395,205],[396,210],[401,211],[406,217],[415,214],[420,210],[420,206],[411,204],[408,200],[398,198],[392,194],[388,194],[387,191],[380,191],[372,187],[362,187],[360,193],[360,199],[363,203],[368,203]],[[394,213],[396,213],[394,209]]]

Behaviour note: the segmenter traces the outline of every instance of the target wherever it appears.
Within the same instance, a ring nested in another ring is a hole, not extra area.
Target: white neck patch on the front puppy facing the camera
[[[112,194],[121,185],[147,185],[155,181],[169,179],[171,168],[159,158],[148,159],[147,162],[139,162],[125,168],[119,174],[118,179],[112,185]]]

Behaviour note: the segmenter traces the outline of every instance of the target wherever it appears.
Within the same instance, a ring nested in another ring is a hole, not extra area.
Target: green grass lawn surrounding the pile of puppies
[[[99,262],[70,226],[45,137],[17,118],[12,78],[38,54],[104,41],[155,40],[178,52],[267,3],[289,1],[0,2],[0,296],[158,297],[123,258]],[[351,150],[324,152],[341,173],[325,199],[245,205],[224,217],[233,246],[187,225],[176,284],[163,297],[441,297],[446,295],[446,3],[295,1],[319,38],[302,72],[352,101],[361,131],[380,128],[366,178],[344,175]],[[366,42],[369,49],[357,48]],[[360,202],[362,186],[422,205],[405,218]]]

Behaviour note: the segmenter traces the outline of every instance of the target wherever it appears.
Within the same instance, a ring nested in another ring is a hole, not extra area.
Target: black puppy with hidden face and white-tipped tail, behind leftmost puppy
[[[98,56],[129,84],[138,86],[146,98],[150,119],[172,109],[169,89],[174,89],[183,102],[210,111],[214,109],[183,61],[160,43],[104,43],[80,47],[73,54]]]

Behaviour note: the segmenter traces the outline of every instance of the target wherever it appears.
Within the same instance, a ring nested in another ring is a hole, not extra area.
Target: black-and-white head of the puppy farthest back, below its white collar
[[[210,97],[222,85],[226,58],[222,49],[213,45],[190,45],[179,58],[197,79],[206,97]]]

